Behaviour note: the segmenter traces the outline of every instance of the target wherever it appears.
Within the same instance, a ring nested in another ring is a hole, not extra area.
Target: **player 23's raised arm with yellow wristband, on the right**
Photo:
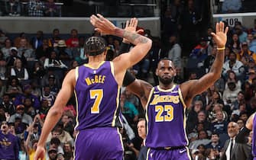
[[[228,27],[224,27],[223,22],[217,23],[215,27],[216,32],[215,34],[212,33],[213,40],[215,40],[218,47],[218,52],[216,53],[215,61],[213,62],[209,73],[203,75],[203,77],[198,80],[185,82],[180,85],[186,106],[190,106],[192,98],[196,96],[196,94],[206,91],[206,89],[213,85],[221,76],[225,56],[225,43],[227,42],[228,33]]]

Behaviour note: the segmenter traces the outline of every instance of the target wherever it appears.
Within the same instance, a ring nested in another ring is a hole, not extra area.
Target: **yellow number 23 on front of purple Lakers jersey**
[[[156,122],[170,122],[173,120],[173,106],[171,105],[157,105],[154,108],[155,112],[157,112],[157,115],[155,117]],[[166,115],[163,115],[163,113],[166,112]]]

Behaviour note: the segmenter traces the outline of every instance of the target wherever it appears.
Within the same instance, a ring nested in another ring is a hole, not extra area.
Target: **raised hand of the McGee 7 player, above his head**
[[[101,14],[92,14],[90,22],[94,27],[96,27],[95,30],[99,31],[101,34],[115,34],[115,25],[104,18]]]

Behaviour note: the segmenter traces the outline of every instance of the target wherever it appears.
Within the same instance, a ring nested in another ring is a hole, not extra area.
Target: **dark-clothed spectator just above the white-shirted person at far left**
[[[26,38],[21,38],[20,46],[18,48],[18,57],[24,56],[27,61],[33,61],[35,59],[34,50],[28,44]]]

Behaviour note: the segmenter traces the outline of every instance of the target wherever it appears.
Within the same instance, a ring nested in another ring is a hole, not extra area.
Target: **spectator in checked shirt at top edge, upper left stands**
[[[44,9],[44,3],[41,0],[30,0],[28,2],[28,16],[43,17]]]

